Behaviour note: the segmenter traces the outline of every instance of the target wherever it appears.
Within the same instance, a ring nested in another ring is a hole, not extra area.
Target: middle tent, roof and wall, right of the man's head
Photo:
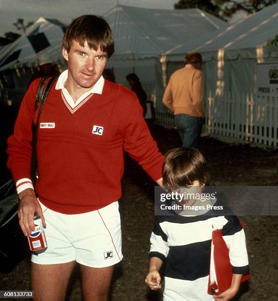
[[[145,85],[161,78],[159,60],[165,53],[200,36],[227,27],[199,9],[165,10],[117,5],[104,14],[114,34],[115,54],[108,62],[116,81],[136,72]],[[156,69],[155,69],[156,65]],[[146,89],[146,87],[145,87]]]

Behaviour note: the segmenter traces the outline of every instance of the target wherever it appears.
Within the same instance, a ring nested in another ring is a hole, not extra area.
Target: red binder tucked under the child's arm
[[[243,223],[241,223],[241,225],[242,227],[244,226]],[[212,271],[210,270],[208,294],[220,295],[231,286],[233,277],[233,268],[230,263],[229,249],[223,240],[221,230],[213,231],[212,252],[211,261],[214,261],[215,275],[212,275]],[[211,283],[211,278],[216,278],[216,281]],[[249,274],[243,275],[241,282],[244,282],[249,278]]]

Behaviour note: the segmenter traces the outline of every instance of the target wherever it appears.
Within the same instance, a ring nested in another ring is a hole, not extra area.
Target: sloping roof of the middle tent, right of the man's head
[[[104,14],[114,34],[112,58],[159,57],[189,38],[220,28],[226,22],[200,9],[146,9],[117,5]]]

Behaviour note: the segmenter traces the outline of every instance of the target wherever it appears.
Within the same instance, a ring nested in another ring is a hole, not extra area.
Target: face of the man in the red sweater
[[[67,60],[68,90],[90,90],[100,78],[106,62],[107,53],[98,48],[96,51],[90,48],[87,41],[84,46],[73,40],[69,53],[62,49],[62,55]]]

